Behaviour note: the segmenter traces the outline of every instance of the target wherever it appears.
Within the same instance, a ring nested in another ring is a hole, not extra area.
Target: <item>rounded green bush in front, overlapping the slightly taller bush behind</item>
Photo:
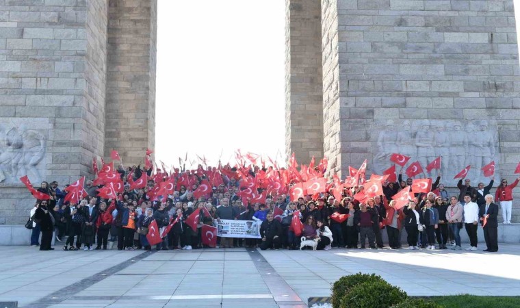
[[[341,308],[388,308],[406,300],[408,295],[386,281],[370,281],[356,285],[341,298]]]

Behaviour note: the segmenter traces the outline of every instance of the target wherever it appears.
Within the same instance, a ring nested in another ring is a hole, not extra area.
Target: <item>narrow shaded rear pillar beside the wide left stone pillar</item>
[[[125,165],[155,146],[157,0],[110,0],[105,157]]]

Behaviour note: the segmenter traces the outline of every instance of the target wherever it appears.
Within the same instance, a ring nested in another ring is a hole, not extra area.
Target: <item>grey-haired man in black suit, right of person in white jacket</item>
[[[493,203],[491,194],[486,194],[484,198],[486,202],[480,205],[478,210],[478,217],[480,217],[480,224],[482,224],[487,246],[484,251],[496,253],[498,251],[498,205]],[[484,221],[486,222],[485,225]]]

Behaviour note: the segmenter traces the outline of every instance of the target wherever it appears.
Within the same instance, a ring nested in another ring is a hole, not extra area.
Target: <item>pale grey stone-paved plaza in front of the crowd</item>
[[[2,246],[0,258],[0,302],[18,307],[307,307],[307,298],[329,296],[330,283],[355,272],[379,274],[412,296],[520,295],[515,244],[499,253]]]

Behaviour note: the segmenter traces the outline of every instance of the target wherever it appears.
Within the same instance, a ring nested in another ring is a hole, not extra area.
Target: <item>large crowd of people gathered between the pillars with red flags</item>
[[[251,167],[249,172],[261,170]],[[53,250],[53,236],[63,242],[64,251],[145,249],[153,247],[148,243],[148,227],[155,220],[159,228],[175,222],[155,245],[157,250],[209,248],[201,240],[203,224],[214,225],[220,219],[257,220],[261,222],[260,238],[218,238],[221,248],[259,247],[265,249],[296,249],[303,240],[315,240],[317,249],[337,248],[402,248],[402,231],[406,230],[408,249],[447,249],[462,250],[460,230],[465,229],[470,243],[465,250],[478,250],[478,226],[484,228],[487,248],[484,251],[498,251],[497,216],[499,205],[502,207],[504,224],[510,223],[512,189],[503,179],[495,196],[489,185],[478,183],[473,188],[469,179],[458,182],[459,194],[450,196],[440,183],[440,178],[432,183],[431,191],[415,194],[404,207],[396,207],[392,197],[403,188],[412,184],[412,179],[404,181],[399,175],[397,182],[383,183],[380,196],[366,198],[360,202],[353,198],[363,191],[363,185],[345,188],[341,198],[331,191],[319,195],[291,198],[289,194],[270,192],[265,203],[250,203],[241,197],[242,179],[227,177],[222,173],[222,183],[213,187],[207,194],[194,198],[194,191],[206,175],[196,175],[196,183],[191,186],[179,185],[178,190],[166,198],[151,198],[147,192],[157,183],[148,177],[146,187],[131,190],[126,179],[140,178],[144,170],[133,166],[118,170],[120,179],[125,181],[124,190],[116,198],[101,198],[99,187],[86,181],[86,197],[75,203],[64,201],[66,193],[60,190],[59,183],[50,185],[43,182],[38,192],[49,198],[36,201],[29,214],[31,246],[39,246],[41,251]],[[151,170],[147,170],[151,175]],[[181,172],[182,173],[182,172]],[[291,200],[293,199],[293,200]],[[499,205],[496,203],[499,202]],[[196,231],[185,222],[195,209],[203,209],[198,216]],[[275,209],[283,211],[275,217]],[[209,213],[209,214],[207,214]],[[296,232],[291,222],[294,215],[303,224]],[[339,219],[338,219],[339,217]],[[382,240],[387,232],[388,243]],[[41,234],[41,240],[40,240]]]

